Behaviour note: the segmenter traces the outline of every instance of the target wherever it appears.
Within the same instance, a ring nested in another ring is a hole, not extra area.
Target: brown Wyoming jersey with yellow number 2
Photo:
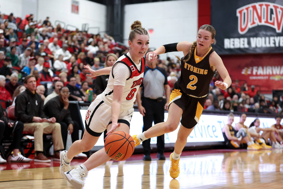
[[[189,61],[183,61],[189,56],[189,53],[182,58],[181,76],[174,88],[181,89],[188,95],[202,97],[208,94],[209,84],[216,73],[216,70],[212,71],[209,65],[209,56],[214,49],[210,47],[203,57],[199,57],[196,56],[196,48]]]

